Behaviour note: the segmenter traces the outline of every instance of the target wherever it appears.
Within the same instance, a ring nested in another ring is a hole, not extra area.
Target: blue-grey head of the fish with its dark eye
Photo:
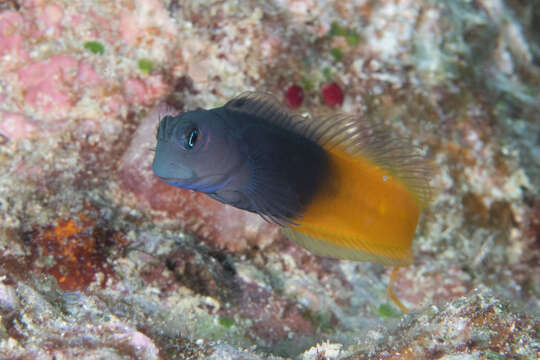
[[[152,170],[170,185],[214,193],[238,176],[240,153],[225,122],[214,112],[167,115],[159,123]]]

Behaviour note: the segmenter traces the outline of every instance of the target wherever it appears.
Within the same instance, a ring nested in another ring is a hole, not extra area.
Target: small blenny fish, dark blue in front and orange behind
[[[246,92],[212,109],[164,116],[153,173],[259,214],[321,256],[400,266],[431,197],[410,141],[373,120],[306,117]],[[392,278],[395,273],[392,274]]]

